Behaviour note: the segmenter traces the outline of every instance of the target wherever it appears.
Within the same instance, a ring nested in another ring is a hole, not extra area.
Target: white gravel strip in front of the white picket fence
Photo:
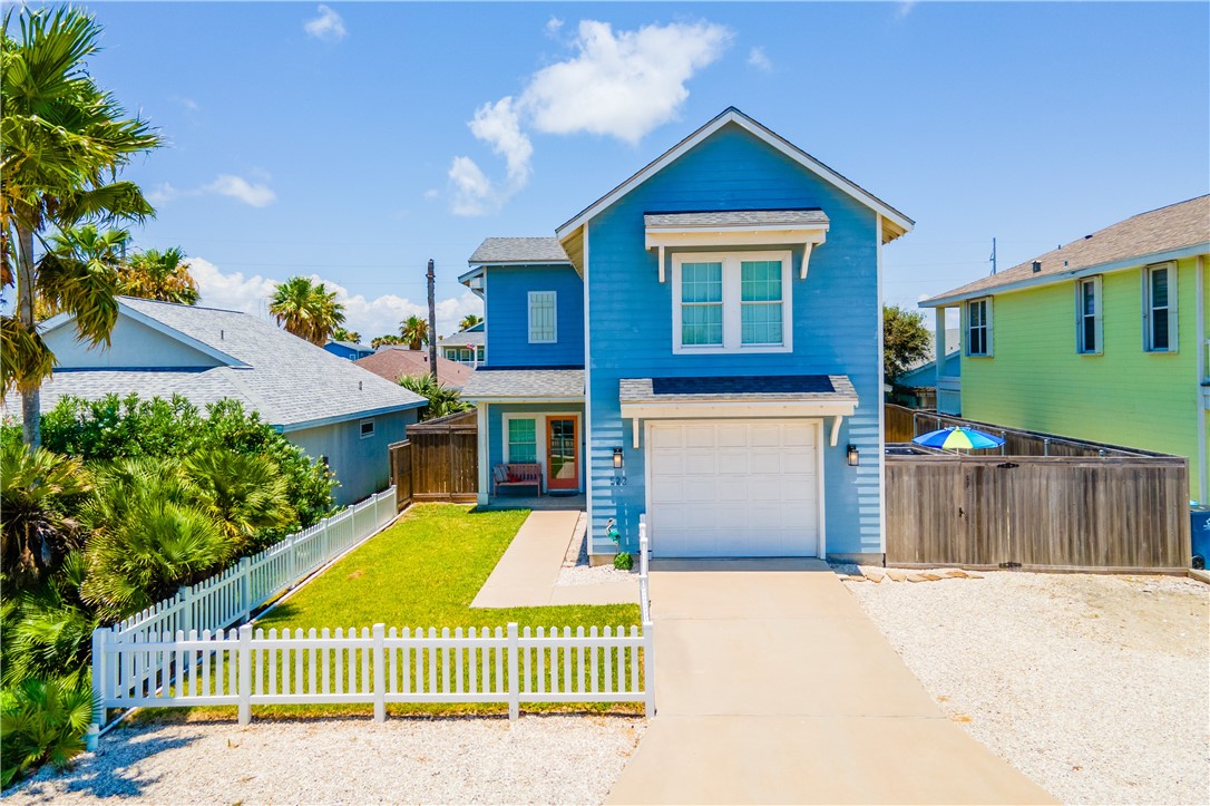
[[[11,804],[599,804],[645,722],[599,715],[186,721],[116,730]]]

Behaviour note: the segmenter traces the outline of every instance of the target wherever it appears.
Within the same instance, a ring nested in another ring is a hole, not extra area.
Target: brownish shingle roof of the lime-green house
[[[1031,260],[938,294],[921,305],[956,297],[992,292],[1021,281],[1064,276],[1133,258],[1171,252],[1210,242],[1210,196],[1160,207],[1085,235]],[[1033,263],[1042,264],[1033,271]],[[1140,261],[1141,263],[1141,261]]]

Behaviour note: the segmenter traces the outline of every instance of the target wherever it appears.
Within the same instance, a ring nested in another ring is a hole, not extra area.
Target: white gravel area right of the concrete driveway
[[[941,708],[1055,798],[1210,800],[1210,586],[1001,571],[848,587]]]

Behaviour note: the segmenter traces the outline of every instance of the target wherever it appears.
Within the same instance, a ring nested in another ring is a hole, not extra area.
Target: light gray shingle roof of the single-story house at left
[[[59,372],[42,386],[42,410],[53,408],[67,395],[96,399],[109,392],[138,392],[143,397],[179,393],[200,407],[232,397],[243,402],[244,408],[259,411],[267,422],[289,428],[425,403],[419,395],[353,365],[347,358],[334,356],[248,313],[127,297],[120,301],[122,309],[155,319],[247,367],[191,372],[156,372],[154,367]],[[10,396],[4,413],[19,411],[19,396]]]

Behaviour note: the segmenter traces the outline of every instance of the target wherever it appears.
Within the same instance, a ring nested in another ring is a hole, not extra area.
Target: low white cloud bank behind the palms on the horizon
[[[269,316],[269,298],[277,287],[277,281],[260,275],[246,276],[243,272],[224,272],[204,258],[190,258],[189,269],[197,281],[201,293],[201,305],[221,307],[232,311],[253,313],[261,318]],[[397,294],[382,294],[373,299],[363,294],[350,294],[340,283],[319,275],[310,275],[312,281],[322,282],[328,290],[336,293],[336,299],[345,305],[345,327],[356,330],[368,344],[370,339],[386,333],[398,333],[399,322],[416,315],[428,318],[428,304],[414,303]],[[437,332],[454,333],[457,323],[467,313],[483,315],[483,300],[469,290],[461,297],[449,297],[437,300]]]

